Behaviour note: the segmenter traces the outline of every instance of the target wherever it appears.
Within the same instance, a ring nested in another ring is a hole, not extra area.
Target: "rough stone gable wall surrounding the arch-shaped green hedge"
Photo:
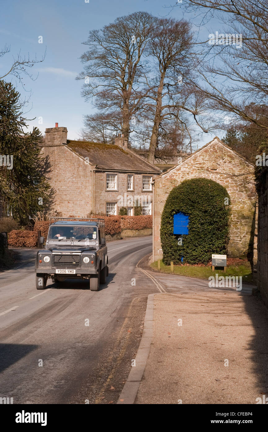
[[[183,180],[198,177],[218,182],[230,195],[231,229],[228,256],[245,257],[252,248],[256,212],[254,165],[215,137],[174,168],[155,178],[153,260],[162,259],[161,214],[169,192]],[[254,241],[254,264],[256,264],[256,248],[256,241]]]

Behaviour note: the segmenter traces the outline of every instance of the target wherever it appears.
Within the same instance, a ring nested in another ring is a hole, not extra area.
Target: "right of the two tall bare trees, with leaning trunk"
[[[202,130],[207,131],[207,127],[203,127],[202,122],[197,120],[202,98],[196,98],[193,86],[189,85],[194,56],[191,48],[192,35],[187,21],[171,18],[158,20],[148,44],[148,53],[155,64],[155,77],[146,79],[146,85],[150,89],[147,92],[150,102],[147,102],[146,106],[154,112],[148,154],[148,161],[152,164],[163,122],[179,120],[191,142],[189,118],[185,121],[183,115],[187,112]]]

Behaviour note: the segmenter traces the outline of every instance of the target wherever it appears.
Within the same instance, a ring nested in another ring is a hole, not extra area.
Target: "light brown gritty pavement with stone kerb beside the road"
[[[251,295],[255,287],[209,288],[206,280],[141,267],[159,293],[149,295],[138,371],[132,368],[117,403],[253,404],[268,397],[268,310]]]

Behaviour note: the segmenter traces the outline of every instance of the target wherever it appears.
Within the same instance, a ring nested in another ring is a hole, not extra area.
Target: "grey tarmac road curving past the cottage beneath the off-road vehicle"
[[[0,274],[0,397],[14,404],[116,403],[137,353],[147,296],[157,292],[136,268],[151,251],[151,237],[110,242],[107,283],[91,292],[73,280],[48,280],[37,291],[36,250],[20,249],[25,264]]]

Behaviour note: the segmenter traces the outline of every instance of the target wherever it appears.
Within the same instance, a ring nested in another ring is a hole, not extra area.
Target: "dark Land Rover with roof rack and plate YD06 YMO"
[[[98,291],[108,276],[104,219],[67,219],[50,225],[45,248],[37,252],[36,288],[45,289],[48,278],[59,284],[71,278],[84,279]]]

